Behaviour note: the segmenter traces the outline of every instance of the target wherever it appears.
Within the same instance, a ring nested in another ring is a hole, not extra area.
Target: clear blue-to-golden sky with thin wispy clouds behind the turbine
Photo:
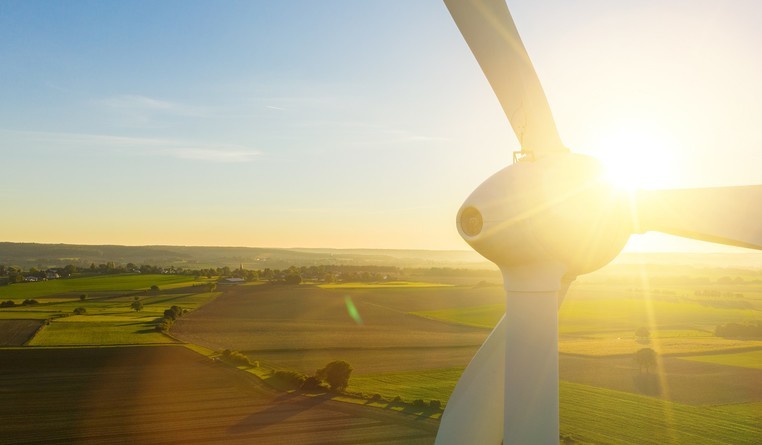
[[[762,2],[509,7],[572,150],[762,182]],[[0,0],[0,241],[467,249],[517,149],[438,0]]]

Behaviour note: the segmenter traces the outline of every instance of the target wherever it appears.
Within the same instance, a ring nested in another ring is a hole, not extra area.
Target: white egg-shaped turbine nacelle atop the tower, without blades
[[[614,259],[633,232],[630,199],[595,158],[520,160],[482,183],[458,211],[460,235],[503,272],[557,264],[567,277]]]

